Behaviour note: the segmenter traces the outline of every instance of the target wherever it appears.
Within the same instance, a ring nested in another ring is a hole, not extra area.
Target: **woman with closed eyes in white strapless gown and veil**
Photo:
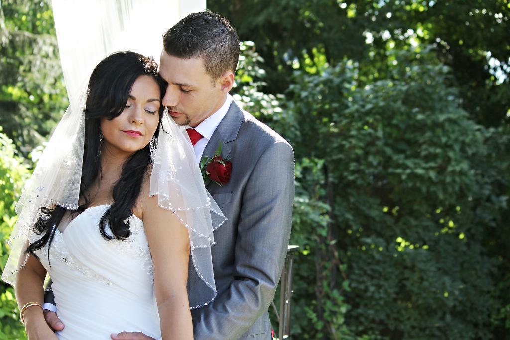
[[[151,58],[111,54],[84,108],[71,105],[49,140],[18,202],[2,276],[30,339],[115,330],[191,339],[190,306],[214,299],[210,246],[224,217],[161,104],[165,87]],[[210,288],[206,301],[187,292],[188,268]],[[65,324],[57,333],[41,307],[46,273]]]

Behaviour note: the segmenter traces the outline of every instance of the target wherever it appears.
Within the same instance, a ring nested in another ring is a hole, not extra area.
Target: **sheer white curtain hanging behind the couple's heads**
[[[53,0],[57,40],[71,105],[79,101],[95,65],[133,50],[159,63],[163,34],[206,0]]]

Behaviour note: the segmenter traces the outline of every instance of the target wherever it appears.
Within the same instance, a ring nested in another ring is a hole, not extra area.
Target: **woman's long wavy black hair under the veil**
[[[113,53],[103,59],[92,71],[88,84],[87,99],[85,102],[85,145],[82,164],[82,178],[80,184],[80,206],[73,212],[83,212],[90,203],[88,191],[101,176],[101,161],[99,157],[99,123],[101,118],[109,120],[119,116],[127,103],[131,88],[135,80],[141,75],[148,75],[156,80],[160,87],[160,99],[166,90],[166,82],[158,74],[158,64],[152,58],[132,51]],[[160,124],[156,130],[159,135],[161,117],[164,106],[159,109]],[[113,237],[125,239],[131,235],[129,217],[136,203],[147,168],[150,164],[149,146],[136,151],[127,158],[122,165],[120,179],[112,191],[113,204],[108,208],[99,222],[101,235],[108,240]],[[34,231],[43,235],[39,240],[31,243],[27,251],[33,254],[36,250],[49,246],[53,241],[57,226],[64,217],[66,209],[55,206],[43,207]],[[124,222],[126,221],[126,222]],[[105,231],[105,225],[110,225],[113,237]]]

